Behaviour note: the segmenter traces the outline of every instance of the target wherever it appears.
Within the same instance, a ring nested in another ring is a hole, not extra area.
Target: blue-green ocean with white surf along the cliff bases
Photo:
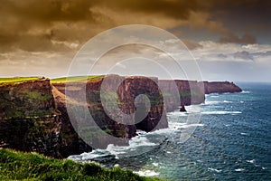
[[[187,112],[169,112],[168,129],[139,132],[128,147],[70,156],[172,180],[271,180],[271,83],[237,83],[240,93],[210,94]],[[196,122],[187,119],[201,110]],[[194,129],[182,141],[181,134]]]

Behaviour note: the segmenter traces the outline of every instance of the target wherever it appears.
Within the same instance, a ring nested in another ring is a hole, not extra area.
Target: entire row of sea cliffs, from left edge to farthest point
[[[109,82],[106,85],[103,84],[105,79]],[[112,85],[117,82],[120,83],[114,90]],[[106,90],[105,97],[101,97],[102,88]],[[205,100],[204,93],[238,91],[241,91],[238,86],[228,81],[158,81],[157,78],[118,75],[98,76],[88,81],[51,83],[49,79],[40,78],[0,82],[0,147],[37,151],[51,157],[91,151],[71,124],[67,105],[76,106],[78,119],[88,123],[80,112],[87,106],[99,129],[126,140],[136,136],[136,129],[148,132],[167,128],[166,111],[200,104]],[[74,99],[83,92],[87,102]],[[65,95],[67,93],[70,97]],[[103,99],[116,99],[117,106]],[[108,114],[105,108],[111,112]],[[88,124],[80,131],[96,134]],[[104,147],[110,144],[104,136],[95,141]]]

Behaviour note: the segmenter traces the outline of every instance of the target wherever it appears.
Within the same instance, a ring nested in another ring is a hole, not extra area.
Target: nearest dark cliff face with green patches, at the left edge
[[[59,157],[60,122],[48,79],[0,84],[0,145]]]

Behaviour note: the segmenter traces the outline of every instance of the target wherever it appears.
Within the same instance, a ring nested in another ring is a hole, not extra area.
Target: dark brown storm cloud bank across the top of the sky
[[[123,24],[190,26],[219,34],[220,43],[257,43],[257,32],[270,30],[271,16],[271,3],[264,0],[0,0],[0,4],[0,52],[65,52],[70,43],[81,45]]]

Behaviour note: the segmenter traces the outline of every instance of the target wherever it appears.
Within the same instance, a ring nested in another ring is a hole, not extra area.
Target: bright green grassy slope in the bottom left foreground
[[[143,180],[149,178],[135,175],[119,167],[107,169],[97,163],[80,164],[71,160],[43,157],[37,153],[23,153],[0,148],[0,180]]]

